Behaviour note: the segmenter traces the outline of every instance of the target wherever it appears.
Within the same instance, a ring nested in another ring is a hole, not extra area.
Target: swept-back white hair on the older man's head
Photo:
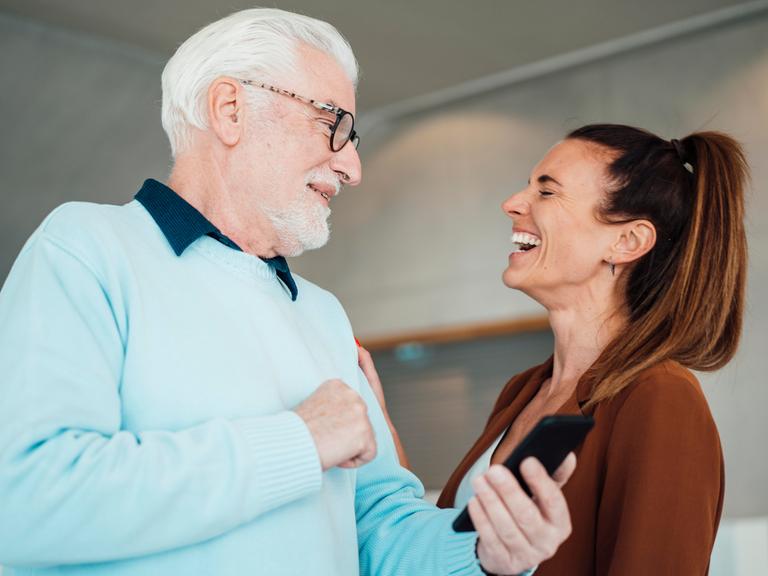
[[[206,99],[216,78],[275,82],[297,72],[301,43],[333,57],[357,86],[357,61],[349,43],[327,22],[308,16],[252,8],[230,14],[190,36],[165,65],[162,76],[163,129],[173,156],[189,146],[190,127],[208,128]],[[254,106],[272,96],[266,90],[249,92]]]

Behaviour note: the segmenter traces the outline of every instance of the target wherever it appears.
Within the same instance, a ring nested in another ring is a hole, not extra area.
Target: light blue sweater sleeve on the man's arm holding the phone
[[[398,463],[389,428],[362,372],[359,378],[378,446],[376,458],[357,474],[361,576],[482,576],[477,535],[454,532],[458,510],[439,509],[423,499],[419,479]]]

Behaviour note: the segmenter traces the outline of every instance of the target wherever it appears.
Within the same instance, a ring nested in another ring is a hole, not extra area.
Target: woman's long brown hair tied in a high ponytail
[[[611,124],[568,138],[614,152],[601,217],[648,219],[657,235],[621,285],[626,329],[583,376],[591,384],[588,404],[611,398],[664,360],[694,370],[724,366],[736,352],[744,309],[749,168],[741,146],[719,132],[669,142]]]

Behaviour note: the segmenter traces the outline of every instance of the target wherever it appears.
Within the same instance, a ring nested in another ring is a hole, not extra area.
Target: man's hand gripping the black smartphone
[[[518,574],[554,555],[571,533],[571,516],[560,489],[575,468],[573,453],[553,478],[538,460],[524,460],[520,471],[533,498],[498,464],[474,479],[469,515],[477,529],[477,556],[484,570]]]

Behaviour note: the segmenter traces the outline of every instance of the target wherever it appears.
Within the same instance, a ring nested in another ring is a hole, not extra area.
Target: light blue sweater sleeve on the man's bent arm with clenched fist
[[[38,231],[0,293],[0,563],[147,555],[320,489],[293,412],[121,429],[125,339],[87,259]]]

